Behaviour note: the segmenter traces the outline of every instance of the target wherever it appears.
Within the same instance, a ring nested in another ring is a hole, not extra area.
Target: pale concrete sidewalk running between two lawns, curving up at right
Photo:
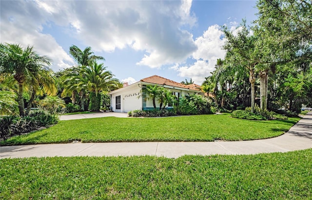
[[[94,114],[90,116],[95,117]],[[265,140],[236,142],[71,143],[1,146],[0,158],[133,155],[154,155],[177,158],[186,154],[257,154],[287,152],[307,148],[312,148],[312,112],[305,115],[304,118],[285,134]]]

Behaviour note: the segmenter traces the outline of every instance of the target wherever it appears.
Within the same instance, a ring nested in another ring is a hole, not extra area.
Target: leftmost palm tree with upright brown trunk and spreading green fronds
[[[23,49],[19,44],[0,44],[0,73],[14,74],[18,82],[18,104],[20,116],[25,115],[23,101],[23,87],[31,82],[36,82],[43,70],[48,70],[47,65],[51,65],[51,59],[47,56],[40,56],[33,47],[27,46]],[[50,77],[44,77],[45,80]],[[49,84],[53,81],[48,81]],[[36,85],[37,86],[37,85]],[[36,87],[34,88],[34,90]]]

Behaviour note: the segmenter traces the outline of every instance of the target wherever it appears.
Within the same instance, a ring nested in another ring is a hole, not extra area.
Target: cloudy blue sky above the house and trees
[[[0,42],[31,45],[59,71],[90,46],[120,81],[159,75],[201,85],[224,57],[222,25],[256,19],[256,1],[0,1]]]

